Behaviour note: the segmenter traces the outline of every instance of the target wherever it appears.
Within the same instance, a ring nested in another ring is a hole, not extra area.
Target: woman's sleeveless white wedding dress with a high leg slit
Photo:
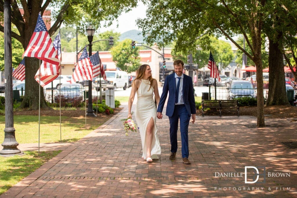
[[[137,103],[135,109],[135,119],[137,127],[139,127],[140,138],[142,143],[142,157],[146,159],[146,127],[149,124],[151,118],[154,119],[154,129],[153,129],[153,141],[151,144],[151,159],[158,159],[159,154],[161,154],[161,147],[159,138],[157,136],[157,125],[156,116],[157,108],[153,99],[154,88],[150,87],[149,80],[141,80],[139,89],[137,93]],[[149,91],[148,91],[149,90]]]

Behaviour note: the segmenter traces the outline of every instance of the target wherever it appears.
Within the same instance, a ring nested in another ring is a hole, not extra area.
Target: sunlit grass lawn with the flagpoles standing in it
[[[107,118],[108,119],[108,118]],[[106,120],[107,120],[106,119]],[[87,129],[85,119],[61,117],[62,142],[73,142],[94,129],[98,128],[106,120],[99,122],[96,119],[87,119]],[[0,141],[4,140],[5,117],[0,116]],[[14,116],[15,138],[18,143],[38,143],[38,116],[17,115]],[[50,143],[60,141],[60,117],[40,116],[40,143]]]

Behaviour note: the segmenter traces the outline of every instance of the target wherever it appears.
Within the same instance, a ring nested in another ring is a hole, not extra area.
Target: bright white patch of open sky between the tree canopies
[[[137,18],[144,18],[146,16],[146,6],[142,3],[139,2],[138,6],[136,8],[133,8],[130,12],[127,13],[122,13],[121,16],[118,18],[118,23],[119,27],[117,28],[117,22],[116,20],[113,21],[113,24],[107,28],[103,27],[104,22],[102,22],[102,27],[100,28],[99,32],[105,32],[108,30],[113,30],[116,32],[124,33],[129,30],[140,30],[137,25],[135,20]]]

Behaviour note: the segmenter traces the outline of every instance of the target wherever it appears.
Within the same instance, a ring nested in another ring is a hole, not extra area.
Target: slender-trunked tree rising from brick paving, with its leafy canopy
[[[257,68],[257,126],[265,126],[261,58],[263,21],[269,17],[265,3],[265,0],[152,0],[148,3],[146,18],[139,19],[137,24],[149,44],[157,42],[162,46],[176,41],[175,50],[184,52],[195,49],[196,40],[201,36],[224,35],[232,41]],[[251,53],[232,39],[238,34],[244,35]]]

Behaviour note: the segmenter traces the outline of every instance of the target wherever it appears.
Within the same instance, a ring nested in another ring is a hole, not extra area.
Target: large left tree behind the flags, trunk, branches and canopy
[[[100,27],[102,21],[106,21],[105,26],[108,26],[122,12],[128,12],[131,8],[137,6],[136,0],[118,0],[118,1],[103,1],[103,0],[86,0],[86,1],[11,1],[11,23],[17,28],[17,31],[12,31],[11,36],[18,40],[23,49],[27,48],[33,31],[36,26],[39,12],[44,14],[46,9],[51,10],[51,27],[48,30],[52,36],[62,25],[73,27],[76,26],[80,33],[85,32],[86,27],[92,25],[94,29]],[[20,12],[23,9],[23,14]],[[4,21],[4,1],[0,1],[0,21]],[[0,25],[0,31],[4,32],[4,27]],[[20,108],[38,109],[39,100],[39,84],[35,81],[34,75],[37,72],[40,62],[36,58],[25,58],[26,84],[25,95]],[[41,107],[45,107],[43,92],[40,92]]]

